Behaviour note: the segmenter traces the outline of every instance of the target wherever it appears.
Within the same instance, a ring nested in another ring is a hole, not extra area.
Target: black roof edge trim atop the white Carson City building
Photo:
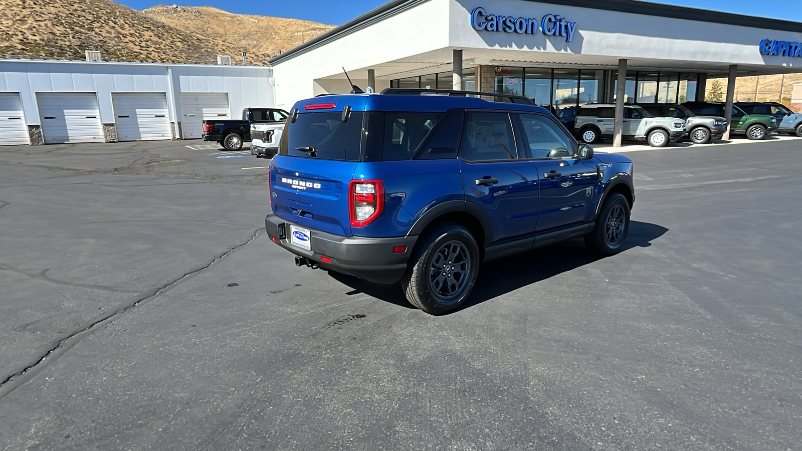
[[[342,36],[350,35],[354,31],[362,30],[385,18],[392,17],[405,10],[409,10],[421,3],[429,0],[391,0],[375,10],[370,10],[358,18],[354,18],[341,26],[326,31],[322,35],[302,43],[300,46],[273,57],[269,60],[270,64],[282,63],[287,59],[302,55],[314,48],[321,47]],[[762,18],[747,16],[743,14],[723,13],[720,11],[702,10],[699,8],[689,8],[686,6],[663,5],[661,3],[642,2],[639,0],[520,0],[522,2],[540,2],[553,5],[578,6],[594,10],[608,10],[620,13],[645,14],[656,17],[678,18],[683,20],[694,20],[697,22],[714,22],[725,25],[749,26],[751,28],[763,28],[764,30],[792,31],[802,33],[802,23],[776,18]]]

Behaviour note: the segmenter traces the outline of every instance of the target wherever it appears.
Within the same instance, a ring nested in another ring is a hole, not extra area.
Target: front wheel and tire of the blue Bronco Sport
[[[630,233],[630,203],[622,193],[612,193],[596,218],[593,232],[585,235],[585,246],[597,254],[618,254]]]

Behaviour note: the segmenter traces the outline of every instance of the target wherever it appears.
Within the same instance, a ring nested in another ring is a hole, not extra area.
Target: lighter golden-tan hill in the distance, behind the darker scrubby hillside
[[[227,55],[232,55],[235,61],[243,49],[248,51],[249,61],[253,59],[252,55],[278,55],[334,28],[294,18],[232,14],[211,6],[159,5],[142,12],[193,35],[230,43],[236,48]]]

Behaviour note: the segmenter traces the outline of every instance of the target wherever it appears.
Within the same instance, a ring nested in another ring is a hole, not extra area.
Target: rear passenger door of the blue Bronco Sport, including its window
[[[465,200],[492,224],[491,242],[531,235],[537,225],[538,177],[518,159],[520,136],[508,112],[467,112],[459,164]],[[490,244],[490,243],[486,243]]]

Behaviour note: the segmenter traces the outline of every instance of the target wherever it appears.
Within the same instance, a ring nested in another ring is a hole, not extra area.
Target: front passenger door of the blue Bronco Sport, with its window
[[[516,116],[523,131],[526,156],[537,166],[540,206],[535,231],[591,221],[599,195],[596,164],[574,157],[573,140],[549,116]]]

